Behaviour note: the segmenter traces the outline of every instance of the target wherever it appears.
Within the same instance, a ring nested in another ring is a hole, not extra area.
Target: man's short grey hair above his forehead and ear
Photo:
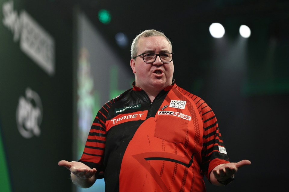
[[[152,37],[152,36],[163,36],[164,38],[166,38],[166,40],[168,40],[169,45],[171,46],[171,50],[172,50],[172,43],[171,41],[166,37],[166,35],[163,32],[154,30],[154,29],[149,29],[149,30],[145,30],[143,32],[141,32],[140,34],[138,34],[135,39],[132,41],[132,47],[131,47],[131,56],[132,58],[137,56],[138,53],[138,40],[141,37]]]

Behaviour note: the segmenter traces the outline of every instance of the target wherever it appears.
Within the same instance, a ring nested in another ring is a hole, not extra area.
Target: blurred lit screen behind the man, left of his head
[[[110,99],[132,87],[134,75],[109,47],[88,18],[77,17],[77,141],[76,160],[79,160],[98,110]],[[128,53],[129,54],[129,53]],[[129,61],[127,61],[129,65]],[[98,179],[88,188],[77,191],[104,191],[104,179]]]

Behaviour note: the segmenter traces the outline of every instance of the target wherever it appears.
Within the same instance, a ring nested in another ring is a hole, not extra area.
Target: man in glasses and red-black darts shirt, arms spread
[[[172,79],[172,44],[146,30],[132,43],[133,88],[98,111],[79,162],[60,161],[74,184],[105,179],[106,191],[205,191],[250,161],[230,163],[216,117]]]

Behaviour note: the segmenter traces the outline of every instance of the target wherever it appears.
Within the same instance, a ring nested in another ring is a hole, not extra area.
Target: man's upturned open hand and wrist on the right
[[[213,171],[210,174],[210,181],[211,183],[223,186],[219,181],[226,181],[229,178],[232,178],[232,176],[242,167],[245,165],[250,165],[251,162],[249,160],[241,160],[238,163],[225,163],[216,166]]]

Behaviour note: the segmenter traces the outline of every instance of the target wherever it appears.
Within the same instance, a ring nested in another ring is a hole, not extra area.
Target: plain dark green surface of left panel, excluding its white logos
[[[72,21],[67,22],[45,1],[13,1],[14,11],[25,10],[54,38],[55,74],[50,76],[20,50],[20,42],[14,42],[12,32],[3,25],[4,2],[0,1],[0,142],[11,189],[71,191],[69,173],[57,163],[72,160]],[[27,87],[38,93],[43,105],[41,135],[31,139],[23,138],[16,124],[18,100],[25,97]]]

